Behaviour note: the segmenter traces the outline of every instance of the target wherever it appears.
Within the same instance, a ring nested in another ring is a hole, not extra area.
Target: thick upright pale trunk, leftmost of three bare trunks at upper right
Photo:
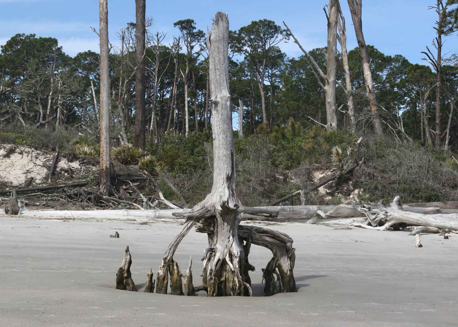
[[[338,0],[329,1],[327,19],[327,53],[326,53],[326,129],[337,130],[336,115],[336,70],[337,70],[337,18]]]

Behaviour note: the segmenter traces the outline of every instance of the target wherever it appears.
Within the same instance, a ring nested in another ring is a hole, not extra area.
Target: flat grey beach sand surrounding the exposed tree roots
[[[185,297],[114,289],[125,245],[144,287],[175,223],[34,220],[0,217],[0,326],[457,326],[458,237],[404,232],[271,226],[296,247],[298,293],[273,297]],[[119,239],[109,238],[117,230]],[[198,285],[206,236],[191,231],[174,259],[192,255]],[[253,245],[255,295],[271,253]],[[141,289],[143,291],[143,289]],[[201,292],[204,293],[205,292]]]

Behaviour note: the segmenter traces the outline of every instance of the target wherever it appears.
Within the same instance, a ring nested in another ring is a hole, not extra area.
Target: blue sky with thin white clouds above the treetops
[[[109,36],[116,42],[116,31],[135,21],[134,0],[109,0]],[[367,44],[385,54],[402,54],[413,63],[426,64],[420,53],[435,37],[432,26],[436,14],[427,10],[433,0],[364,0],[363,30]],[[196,21],[206,31],[216,11],[229,15],[230,29],[235,30],[253,20],[285,21],[306,50],[326,44],[326,18],[322,7],[326,0],[251,0],[251,1],[152,1],[147,0],[147,16],[154,19],[152,31],[167,33],[169,42],[178,31],[173,23],[185,18]],[[348,48],[356,44],[346,0],[341,0],[347,21]],[[98,29],[97,0],[0,0],[0,44],[16,33],[35,33],[55,37],[65,53],[91,49],[98,51],[98,38],[90,27]],[[408,14],[406,14],[408,13]],[[446,51],[457,51],[457,36],[447,37]],[[301,54],[296,44],[282,44],[290,57]]]

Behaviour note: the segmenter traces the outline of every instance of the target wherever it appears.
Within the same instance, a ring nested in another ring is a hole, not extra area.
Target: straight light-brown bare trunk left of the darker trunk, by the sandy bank
[[[100,15],[100,193],[111,193],[110,72],[108,62],[108,0],[99,0]]]

